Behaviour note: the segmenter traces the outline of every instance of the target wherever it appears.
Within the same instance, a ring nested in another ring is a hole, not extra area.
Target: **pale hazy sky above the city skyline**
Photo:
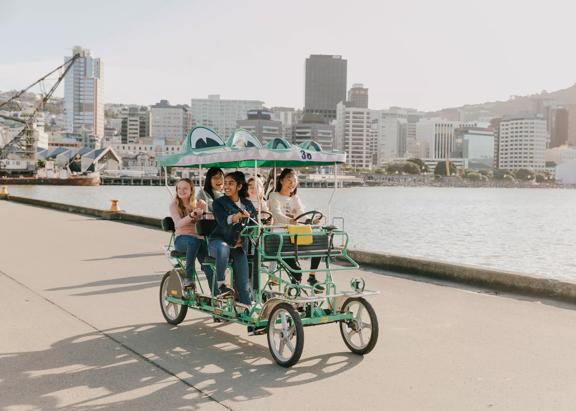
[[[574,84],[575,11],[558,0],[0,0],[0,90],[81,45],[103,61],[106,103],[220,94],[298,108],[306,57],[338,54],[371,108],[435,110]]]

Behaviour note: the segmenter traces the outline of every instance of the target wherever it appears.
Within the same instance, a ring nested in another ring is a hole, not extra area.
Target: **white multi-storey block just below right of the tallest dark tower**
[[[346,152],[346,162],[352,167],[372,168],[373,139],[372,110],[346,107],[344,102],[336,106],[336,144]]]

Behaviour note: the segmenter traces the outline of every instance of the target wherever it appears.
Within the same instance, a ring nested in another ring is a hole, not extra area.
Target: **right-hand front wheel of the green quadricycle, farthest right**
[[[372,305],[361,297],[349,298],[342,312],[351,312],[352,319],[340,321],[340,334],[344,344],[354,354],[368,354],[378,341],[378,318]]]

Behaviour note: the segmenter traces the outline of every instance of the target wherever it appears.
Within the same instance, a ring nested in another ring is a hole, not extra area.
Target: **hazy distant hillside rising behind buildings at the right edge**
[[[467,104],[461,107],[446,108],[440,111],[428,113],[428,116],[442,116],[448,119],[454,118],[458,113],[466,113],[467,117],[500,117],[503,115],[516,115],[526,113],[541,113],[542,107],[548,104],[567,105],[576,104],[576,84],[566,89],[529,96],[513,96],[507,101],[491,101],[483,104]]]

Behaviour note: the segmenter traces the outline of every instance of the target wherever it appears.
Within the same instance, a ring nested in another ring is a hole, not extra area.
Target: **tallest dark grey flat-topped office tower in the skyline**
[[[346,100],[347,64],[341,56],[312,54],[306,59],[304,113],[336,118],[336,105]]]

